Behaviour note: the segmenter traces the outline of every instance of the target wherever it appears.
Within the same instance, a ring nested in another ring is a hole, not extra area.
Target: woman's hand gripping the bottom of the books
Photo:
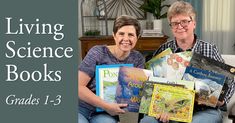
[[[124,114],[125,110],[123,110],[122,108],[125,107],[127,107],[127,104],[108,103],[104,109],[110,115],[114,116],[114,115]]]

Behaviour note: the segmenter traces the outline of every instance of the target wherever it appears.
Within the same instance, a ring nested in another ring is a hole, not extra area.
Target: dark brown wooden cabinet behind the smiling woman
[[[164,37],[140,37],[135,49],[142,51],[154,51],[159,46],[167,41],[167,36]],[[114,44],[112,36],[101,36],[101,37],[80,37],[82,58],[85,57],[89,49],[95,45],[111,45]]]

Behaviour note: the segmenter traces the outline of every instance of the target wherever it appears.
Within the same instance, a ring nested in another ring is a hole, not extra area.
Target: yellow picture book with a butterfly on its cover
[[[182,87],[154,84],[149,116],[168,113],[169,119],[191,122],[194,108],[195,91]]]

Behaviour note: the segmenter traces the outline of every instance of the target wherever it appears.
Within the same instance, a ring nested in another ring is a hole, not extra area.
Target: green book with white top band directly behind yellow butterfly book
[[[140,102],[139,113],[148,114],[154,84],[169,84],[172,86],[179,86],[179,87],[187,88],[190,90],[194,90],[194,82],[193,81],[168,80],[166,78],[150,76],[148,81],[146,83],[144,83],[144,87],[143,87],[143,90],[141,93],[141,102]]]

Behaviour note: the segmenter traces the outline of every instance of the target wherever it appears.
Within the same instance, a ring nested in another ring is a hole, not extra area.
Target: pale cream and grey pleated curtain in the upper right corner
[[[235,1],[204,0],[202,39],[216,44],[223,54],[235,54]]]

